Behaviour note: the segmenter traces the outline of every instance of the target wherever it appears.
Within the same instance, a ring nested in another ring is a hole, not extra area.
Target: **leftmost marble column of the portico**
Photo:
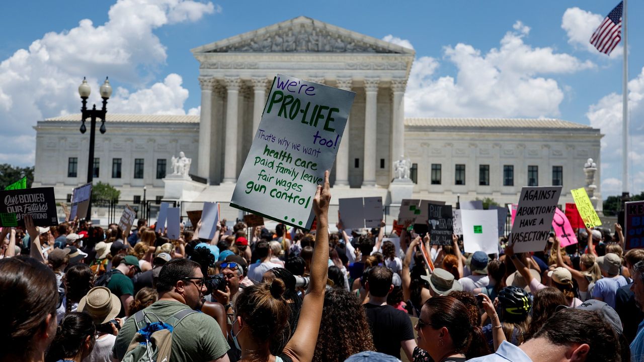
[[[199,119],[199,161],[197,164],[197,172],[199,176],[204,177],[208,180],[210,180],[211,164],[210,145],[213,141],[211,140],[211,131],[213,127],[212,105],[213,87],[215,83],[216,80],[212,77],[199,78],[199,85],[202,89],[202,107]]]

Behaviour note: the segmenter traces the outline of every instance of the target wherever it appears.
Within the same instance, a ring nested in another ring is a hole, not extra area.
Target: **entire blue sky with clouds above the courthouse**
[[[23,1],[0,5],[0,162],[33,164],[38,119],[74,113],[109,75],[120,113],[196,113],[190,49],[305,15],[411,44],[408,116],[554,117],[600,127],[602,194],[621,190],[621,47],[585,44],[617,1]],[[110,13],[110,9],[112,12]],[[632,190],[644,189],[644,3],[629,3]],[[84,19],[89,19],[86,21]],[[79,22],[81,22],[79,24]],[[49,33],[49,34],[48,34]],[[583,40],[585,39],[585,40]],[[404,42],[407,41],[407,42]],[[472,87],[480,87],[478,93]],[[95,92],[97,93],[97,92]],[[620,107],[617,109],[616,107]],[[617,177],[614,177],[617,176]],[[580,185],[581,186],[581,185]]]

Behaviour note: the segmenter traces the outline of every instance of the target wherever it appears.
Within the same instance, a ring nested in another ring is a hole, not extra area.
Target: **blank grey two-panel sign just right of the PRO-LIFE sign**
[[[343,228],[379,228],[383,220],[382,197],[350,197],[339,199],[340,221]]]

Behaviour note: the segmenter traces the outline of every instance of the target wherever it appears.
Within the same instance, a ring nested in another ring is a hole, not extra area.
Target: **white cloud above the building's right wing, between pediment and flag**
[[[488,53],[468,44],[444,48],[444,59],[457,68],[456,77],[437,77],[436,59],[421,57],[413,64],[405,94],[407,116],[542,117],[558,116],[564,100],[556,80],[545,74],[573,73],[594,68],[552,48],[524,42],[530,28],[517,21],[499,48]]]

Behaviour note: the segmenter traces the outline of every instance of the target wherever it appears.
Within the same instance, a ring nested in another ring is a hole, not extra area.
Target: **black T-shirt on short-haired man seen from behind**
[[[391,305],[366,303],[364,307],[375,350],[400,359],[401,342],[413,339],[412,321],[408,314]]]

